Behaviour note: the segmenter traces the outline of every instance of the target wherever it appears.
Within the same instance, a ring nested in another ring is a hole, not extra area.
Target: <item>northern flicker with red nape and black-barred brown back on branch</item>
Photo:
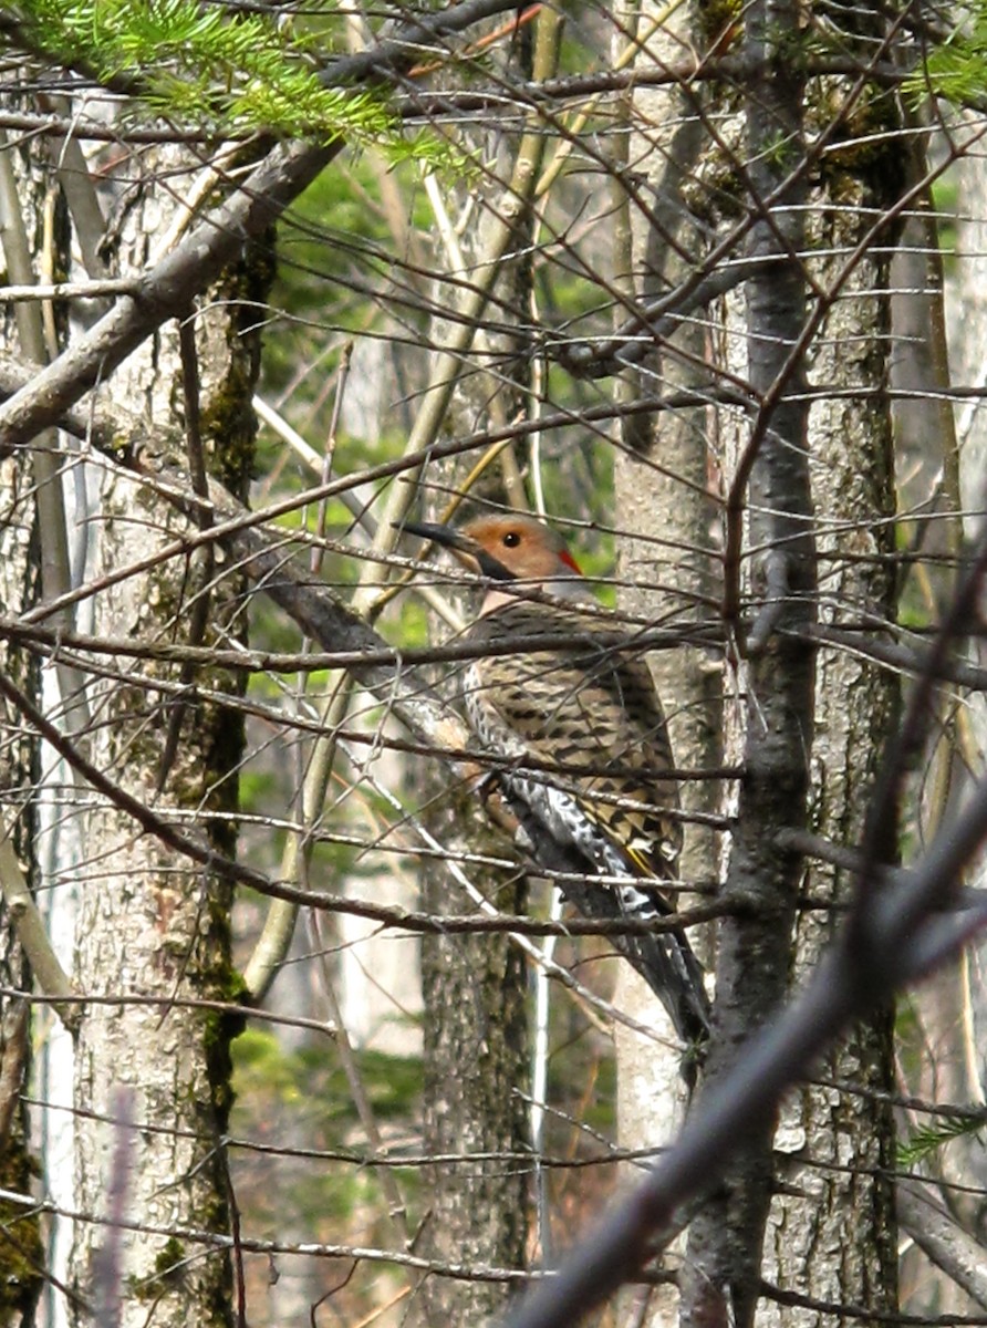
[[[480,653],[464,700],[484,749],[507,758],[495,777],[535,863],[573,872],[563,891],[590,916],[667,916],[672,908],[658,883],[675,876],[679,797],[675,781],[663,778],[673,761],[662,703],[627,631],[595,606],[561,535],[533,517],[405,530],[488,578],[466,633]],[[606,884],[599,876],[634,879]],[[679,1037],[701,1042],[709,1005],[685,934],[626,934],[616,944]]]

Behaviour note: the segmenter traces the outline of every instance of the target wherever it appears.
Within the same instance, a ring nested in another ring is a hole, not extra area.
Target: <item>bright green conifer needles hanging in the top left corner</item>
[[[23,17],[36,50],[110,85],[125,77],[143,105],[171,121],[221,135],[345,137],[395,158],[450,165],[448,146],[401,138],[379,90],[320,84],[311,53],[323,33],[197,0],[31,0]]]

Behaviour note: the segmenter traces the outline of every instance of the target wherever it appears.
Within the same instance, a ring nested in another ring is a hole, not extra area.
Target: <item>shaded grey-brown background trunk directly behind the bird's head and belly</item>
[[[546,15],[545,20],[549,19]],[[478,300],[476,292],[464,295],[456,283],[448,290],[440,283],[437,291],[436,305],[457,309],[473,327],[472,335],[466,335],[469,345],[462,348],[473,357],[472,372],[462,372],[458,364],[454,371],[445,371],[456,373],[444,421],[444,428],[453,433],[503,425],[525,404],[523,380],[513,377],[511,368],[501,368],[502,360],[511,367],[517,364],[515,337],[510,328],[494,332],[484,325],[488,320],[499,323],[502,309],[525,311],[529,307],[531,212],[527,190],[537,171],[541,145],[533,146],[527,139],[518,143],[515,135],[505,135],[499,129],[482,139],[484,157],[490,162],[486,187],[480,197],[470,191],[473,224],[460,235],[458,254],[453,247],[442,255],[444,267],[450,270],[465,262],[478,288],[493,272],[489,303]],[[470,215],[462,197],[454,198],[453,205],[450,212],[460,210],[460,215]],[[448,244],[448,231],[445,238]],[[446,359],[442,351],[464,335],[454,323],[436,320],[433,340],[438,353],[433,381],[441,374],[437,367]],[[482,372],[486,367],[493,367],[494,372]],[[476,458],[469,459],[472,465]],[[482,481],[474,479],[474,489],[465,497],[517,502],[519,495],[510,487],[511,467],[505,462],[506,458],[501,458],[501,465],[490,467]],[[465,481],[466,469],[433,467],[429,478],[434,481],[437,475],[456,489]],[[473,606],[461,607],[469,612]],[[450,799],[446,784],[440,806],[442,823],[433,826],[433,833],[444,849],[450,854],[468,847],[476,853],[480,829],[476,797],[466,794]],[[495,853],[503,843],[493,837],[490,847]],[[526,907],[523,872],[505,882],[495,872],[469,866],[468,875],[497,907],[509,912]],[[456,878],[434,866],[426,867],[422,906],[441,915],[449,910],[450,898],[466,902]],[[425,1146],[429,1154],[460,1159],[429,1169],[430,1214],[422,1244],[446,1263],[519,1270],[527,1254],[530,1211],[529,1169],[519,1162],[530,1135],[523,1097],[518,1093],[529,1074],[526,959],[503,934],[424,936],[421,968]],[[432,1279],[425,1292],[429,1321],[448,1320],[458,1325],[502,1315],[511,1288],[503,1282],[481,1278]]]

